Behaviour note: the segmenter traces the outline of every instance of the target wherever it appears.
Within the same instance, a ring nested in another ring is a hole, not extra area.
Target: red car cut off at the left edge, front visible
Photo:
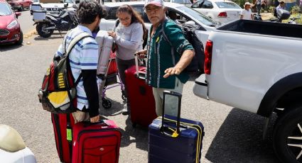
[[[15,13],[5,0],[0,0],[0,44],[22,44],[23,33],[17,20],[18,16],[21,16],[21,13]]]

